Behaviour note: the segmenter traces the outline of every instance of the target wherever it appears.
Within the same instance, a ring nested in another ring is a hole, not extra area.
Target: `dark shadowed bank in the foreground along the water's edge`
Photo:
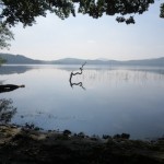
[[[0,126],[0,163],[163,164],[164,139],[140,141],[120,136],[99,139],[83,133]]]

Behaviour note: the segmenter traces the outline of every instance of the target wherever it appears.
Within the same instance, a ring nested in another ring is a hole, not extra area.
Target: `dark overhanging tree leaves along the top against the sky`
[[[46,16],[47,11],[65,20],[77,13],[94,19],[116,15],[116,21],[134,23],[133,15],[148,11],[154,0],[0,0],[0,21],[9,26],[21,22],[31,26],[37,16]],[[161,17],[164,17],[164,3],[161,4]],[[1,37],[1,33],[0,33]]]

